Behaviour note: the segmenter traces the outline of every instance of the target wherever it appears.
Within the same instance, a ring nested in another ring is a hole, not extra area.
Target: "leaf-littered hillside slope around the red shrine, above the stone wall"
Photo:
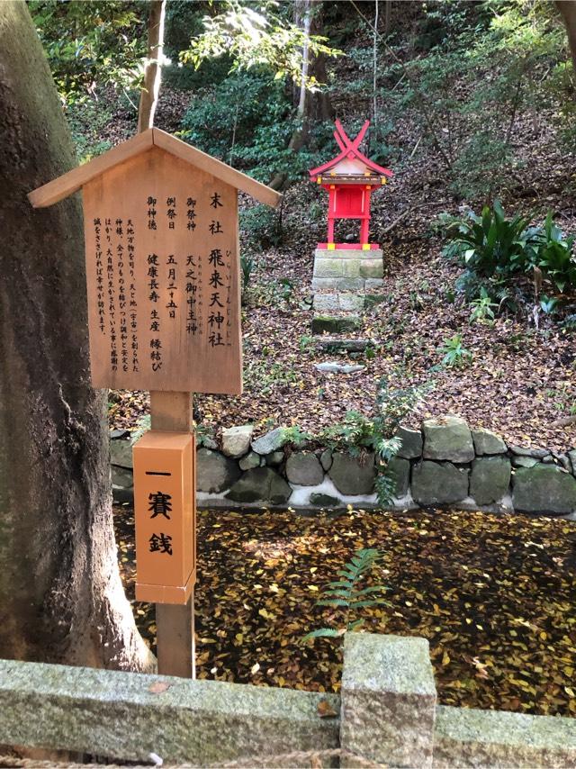
[[[157,125],[176,131],[189,97],[166,89]],[[107,139],[130,134],[130,116],[119,108]],[[418,140],[410,122],[398,128],[399,142]],[[527,150],[527,167],[514,199],[523,210],[560,212],[563,227],[574,229],[573,196],[566,197],[569,170],[560,150],[544,146],[545,122],[518,128]],[[552,154],[551,154],[552,153]],[[556,153],[556,154],[554,154]],[[253,422],[255,436],[276,425],[298,424],[318,432],[341,421],[348,410],[370,415],[376,386],[384,377],[392,387],[431,385],[413,422],[448,412],[463,416],[473,428],[486,427],[523,446],[564,451],[576,445],[576,426],[554,424],[570,414],[574,385],[574,331],[557,318],[542,316],[536,329],[532,303],[517,315],[502,314],[493,325],[470,324],[470,305],[455,294],[462,267],[441,255],[442,243],[432,223],[438,213],[455,211],[434,158],[416,156],[390,185],[374,196],[373,240],[384,253],[383,303],[363,315],[363,327],[347,334],[370,339],[367,355],[330,353],[311,336],[311,276],[316,243],[325,240],[326,200],[316,185],[293,185],[284,196],[283,243],[263,249],[243,308],[244,383],[242,396],[198,395],[198,415],[205,429]],[[247,200],[243,204],[249,204]],[[397,217],[409,215],[383,237]],[[344,234],[344,233],[342,233]],[[240,239],[242,243],[242,237]],[[529,286],[527,286],[529,293]],[[574,312],[569,299],[563,312]],[[439,351],[446,339],[463,335],[472,353],[470,365],[442,366]],[[338,359],[365,366],[354,374],[323,374],[314,364]],[[290,408],[286,404],[290,403]],[[111,426],[133,430],[148,411],[147,395],[112,394]]]

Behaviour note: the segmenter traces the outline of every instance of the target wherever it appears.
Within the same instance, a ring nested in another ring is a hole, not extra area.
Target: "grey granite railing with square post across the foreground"
[[[348,633],[339,697],[10,660],[0,661],[0,694],[0,744],[117,761],[576,764],[576,719],[438,705],[424,638]]]

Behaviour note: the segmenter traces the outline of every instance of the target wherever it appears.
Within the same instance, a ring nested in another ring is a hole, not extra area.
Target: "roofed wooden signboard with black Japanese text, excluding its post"
[[[274,190],[148,129],[30,193],[82,189],[95,387],[242,392],[238,190]]]

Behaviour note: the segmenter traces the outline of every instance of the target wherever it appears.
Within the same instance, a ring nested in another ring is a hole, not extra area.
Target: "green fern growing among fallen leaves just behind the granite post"
[[[343,613],[342,625],[339,628],[320,628],[307,633],[302,640],[312,638],[338,638],[344,633],[360,628],[364,619],[357,616],[358,610],[370,609],[374,606],[391,604],[383,598],[374,597],[383,593],[386,588],[382,584],[360,587],[365,577],[374,570],[381,554],[374,548],[356,550],[352,559],[339,569],[340,577],[335,582],[330,582],[322,591],[322,598],[316,602],[317,606],[329,606],[341,609]]]

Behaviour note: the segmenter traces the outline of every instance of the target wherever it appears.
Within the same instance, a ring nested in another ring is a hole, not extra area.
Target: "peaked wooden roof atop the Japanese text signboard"
[[[58,203],[68,195],[77,192],[97,176],[102,176],[111,168],[154,147],[164,149],[170,155],[184,160],[193,167],[200,168],[225,184],[242,190],[259,203],[276,207],[282,200],[282,195],[271,187],[257,182],[256,179],[237,171],[236,168],[222,163],[221,160],[211,158],[201,149],[196,149],[159,128],[148,128],[147,131],[142,131],[131,139],[123,141],[117,147],[109,149],[85,165],[73,168],[67,174],[58,176],[58,178],[29,193],[28,199],[34,208],[45,208]]]

